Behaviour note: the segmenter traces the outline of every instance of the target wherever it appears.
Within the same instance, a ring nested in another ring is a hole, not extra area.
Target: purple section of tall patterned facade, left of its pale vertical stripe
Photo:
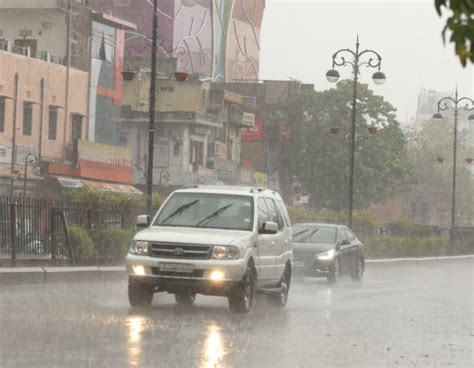
[[[125,57],[148,58],[152,48],[153,0],[91,0],[97,11],[137,25],[125,35]],[[211,0],[161,0],[158,3],[158,56],[176,57],[177,68],[210,77]]]

